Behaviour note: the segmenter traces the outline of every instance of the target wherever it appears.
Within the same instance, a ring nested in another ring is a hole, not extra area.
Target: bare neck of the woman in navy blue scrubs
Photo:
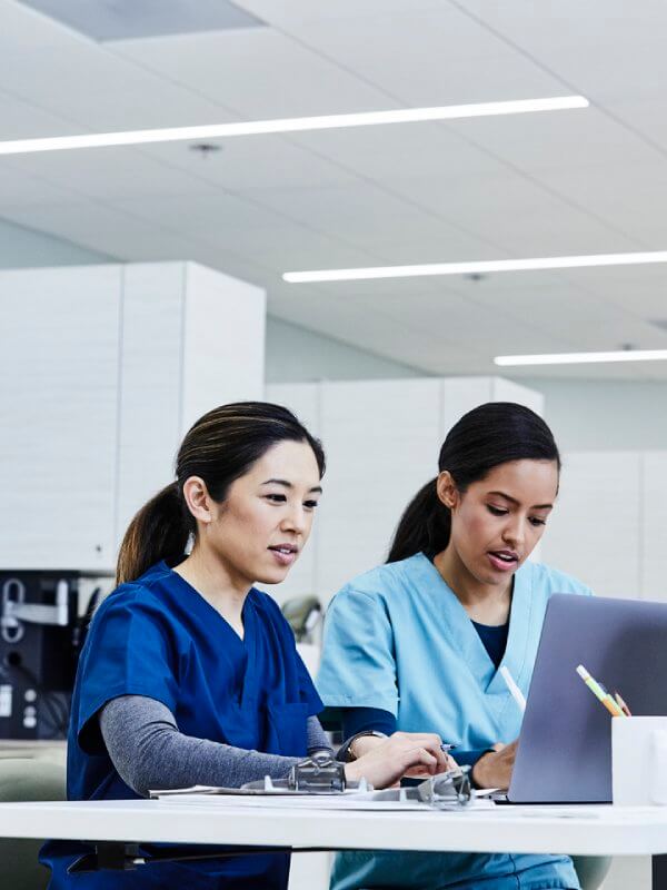
[[[219,560],[197,546],[173,571],[243,639],[242,611],[251,586],[246,578],[236,577]]]

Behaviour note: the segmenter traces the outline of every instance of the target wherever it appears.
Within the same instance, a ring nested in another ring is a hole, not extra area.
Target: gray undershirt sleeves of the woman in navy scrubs
[[[151,789],[195,784],[239,788],[270,775],[281,779],[300,758],[247,751],[183,735],[171,711],[143,695],[121,695],[99,715],[102,739],[122,781],[141,797]],[[308,753],[329,749],[316,716],[308,718]]]

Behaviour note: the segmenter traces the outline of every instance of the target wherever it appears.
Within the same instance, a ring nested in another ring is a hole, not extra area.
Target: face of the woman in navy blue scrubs
[[[239,584],[277,584],[308,541],[321,491],[310,445],[280,442],[229,486],[222,503],[209,500],[201,545]]]

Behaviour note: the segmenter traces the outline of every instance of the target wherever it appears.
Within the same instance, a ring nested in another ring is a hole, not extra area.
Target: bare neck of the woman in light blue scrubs
[[[479,581],[468,571],[452,546],[438,553],[434,565],[472,621],[489,625],[508,621],[514,583],[511,577],[506,584]]]

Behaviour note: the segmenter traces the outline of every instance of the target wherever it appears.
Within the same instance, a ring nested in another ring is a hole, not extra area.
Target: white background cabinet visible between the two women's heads
[[[280,602],[313,593],[326,603],[386,558],[402,512],[437,475],[445,435],[462,414],[491,400],[541,411],[539,393],[497,377],[280,384],[267,387],[267,398],[295,411],[327,453],[311,540],[271,590]]]

